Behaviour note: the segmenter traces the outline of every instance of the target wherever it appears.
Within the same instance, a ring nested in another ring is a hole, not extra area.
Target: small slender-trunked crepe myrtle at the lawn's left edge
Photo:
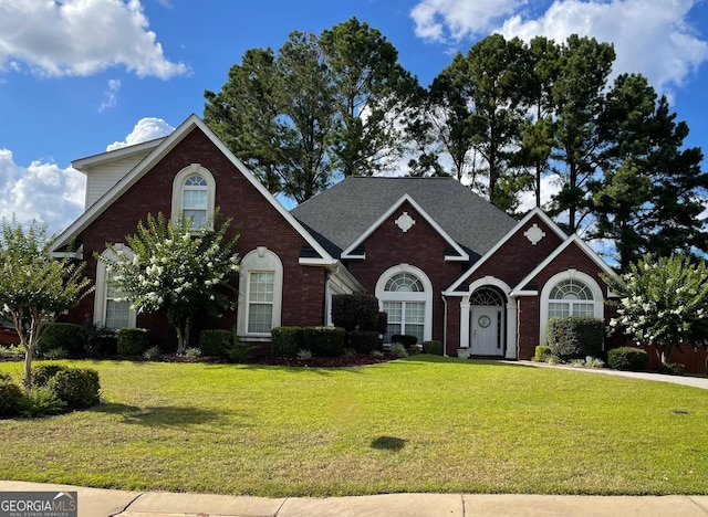
[[[32,359],[48,325],[93,291],[84,262],[52,255],[46,226],[32,221],[27,231],[13,217],[0,233],[0,316],[12,321],[24,347],[24,389],[32,386]]]

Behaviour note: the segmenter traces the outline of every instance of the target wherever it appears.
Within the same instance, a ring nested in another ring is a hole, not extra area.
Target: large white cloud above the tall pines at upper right
[[[708,61],[708,42],[690,23],[698,0],[555,0],[537,19],[520,0],[421,0],[410,15],[416,34],[435,41],[479,38],[500,32],[531,40],[562,42],[571,34],[611,42],[614,74],[638,72],[659,92],[681,86]],[[498,24],[494,27],[493,24]]]

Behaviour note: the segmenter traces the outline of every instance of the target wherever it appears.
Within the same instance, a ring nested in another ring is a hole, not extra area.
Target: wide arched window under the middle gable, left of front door
[[[418,344],[433,335],[433,285],[417,267],[400,264],[386,271],[376,284],[376,297],[388,316],[384,342],[392,336],[416,336]]]

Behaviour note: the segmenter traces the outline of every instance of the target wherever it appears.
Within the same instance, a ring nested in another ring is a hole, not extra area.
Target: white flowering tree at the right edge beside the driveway
[[[621,296],[610,323],[637,344],[655,347],[662,362],[684,345],[708,346],[708,267],[705,261],[649,255],[620,277],[604,278]]]

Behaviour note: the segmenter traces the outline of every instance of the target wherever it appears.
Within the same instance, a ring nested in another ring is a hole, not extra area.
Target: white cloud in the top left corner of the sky
[[[91,75],[123,65],[138,76],[185,74],[163,54],[139,0],[2,0],[0,70]]]

